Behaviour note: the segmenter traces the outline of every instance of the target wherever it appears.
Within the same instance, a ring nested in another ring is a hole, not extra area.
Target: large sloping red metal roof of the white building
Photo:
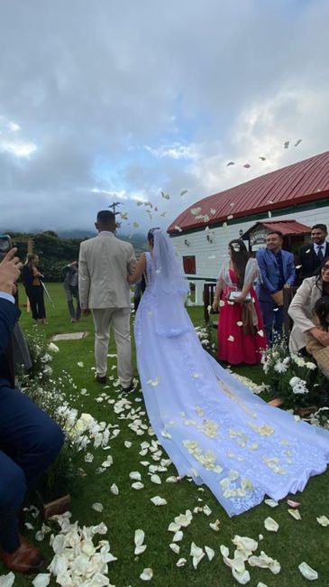
[[[227,220],[230,216],[242,218],[328,196],[329,151],[326,151],[196,201],[179,214],[170,224],[168,232],[175,232],[175,226],[183,230],[204,227],[205,224]],[[196,219],[197,215],[191,213],[193,208],[201,208],[199,214],[209,219]]]

